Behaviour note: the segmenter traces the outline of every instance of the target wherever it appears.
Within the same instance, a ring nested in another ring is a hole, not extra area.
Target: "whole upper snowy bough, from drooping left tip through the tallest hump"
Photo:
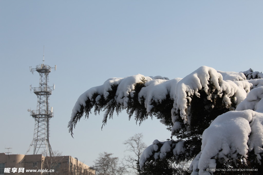
[[[230,76],[229,73],[225,74]],[[103,85],[93,87],[79,97],[72,110],[69,131],[72,132],[84,113],[88,118],[92,108],[95,114],[105,111],[103,125],[113,116],[114,111],[118,114],[126,109],[129,119],[134,115],[136,121],[141,123],[148,116],[152,117],[152,114],[155,114],[162,123],[174,124],[173,130],[176,130],[181,127],[181,124],[175,121],[178,116],[184,120],[184,124],[190,124],[191,114],[188,107],[193,96],[200,96],[199,91],[204,91],[208,100],[217,96],[223,97],[227,108],[232,104],[231,97],[235,93],[242,93],[236,84],[224,81],[220,73],[206,66],[200,67],[183,79],[168,80],[167,77],[145,77],[140,74],[126,78],[110,78]],[[241,100],[243,96],[234,96],[236,104]],[[158,106],[165,108],[166,113],[160,111]],[[178,111],[180,114],[174,114]]]

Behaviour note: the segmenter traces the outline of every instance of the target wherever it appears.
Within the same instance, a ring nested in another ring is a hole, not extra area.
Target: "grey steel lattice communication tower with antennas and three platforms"
[[[33,92],[37,95],[37,110],[28,110],[31,111],[30,114],[35,119],[35,129],[34,137],[27,153],[30,151],[31,147],[34,147],[33,154],[37,154],[39,150],[43,150],[46,156],[53,156],[49,143],[49,120],[53,117],[53,108],[49,108],[48,103],[49,96],[55,89],[55,85],[53,85],[53,87],[48,86],[48,74],[51,72],[52,68],[56,70],[57,66],[55,65],[55,67],[50,67],[45,65],[44,54],[43,64],[37,65],[36,68],[30,67],[32,74],[34,74],[34,71],[39,73],[40,79],[39,87],[30,86],[30,91],[33,90]]]

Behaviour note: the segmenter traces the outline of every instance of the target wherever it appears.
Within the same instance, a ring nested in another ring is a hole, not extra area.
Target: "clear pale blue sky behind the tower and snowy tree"
[[[80,94],[111,77],[135,74],[185,77],[200,66],[221,71],[263,71],[263,1],[0,1],[0,152],[25,154],[32,139],[38,87],[33,68],[49,74],[54,118],[50,144],[92,165],[100,152],[123,158],[124,140],[143,132],[145,143],[170,132],[156,119],[141,126],[125,111],[100,129],[90,115],[74,130],[67,124]]]

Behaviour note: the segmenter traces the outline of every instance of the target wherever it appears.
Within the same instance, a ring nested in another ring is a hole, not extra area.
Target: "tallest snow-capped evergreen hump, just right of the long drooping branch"
[[[227,75],[229,78],[230,73],[231,72],[227,72],[224,75]],[[232,75],[233,74],[234,73],[232,73]],[[172,120],[174,124],[172,131],[181,129],[183,124],[190,126],[191,117],[194,115],[191,103],[195,97],[200,98],[201,102],[207,103],[205,106],[206,110],[213,110],[217,100],[220,100],[225,108],[233,110],[237,104],[246,98],[245,89],[250,90],[250,84],[248,82],[244,81],[244,83],[241,84],[230,80],[224,81],[222,75],[213,68],[206,66],[200,67],[176,84],[174,109],[172,109]],[[201,94],[203,94],[203,97],[200,97]],[[206,101],[210,101],[211,103]],[[183,123],[179,121],[180,118],[183,119]]]

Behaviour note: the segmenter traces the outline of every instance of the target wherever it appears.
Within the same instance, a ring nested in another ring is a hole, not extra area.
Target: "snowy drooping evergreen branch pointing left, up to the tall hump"
[[[167,86],[158,86],[167,81],[171,83],[166,83]],[[141,123],[147,119],[148,115],[151,116],[152,103],[161,103],[170,92],[169,87],[174,82],[176,80],[168,80],[167,77],[151,78],[140,74],[126,78],[110,78],[103,85],[90,88],[78,98],[72,110],[69,131],[72,133],[73,127],[84,113],[88,118],[92,108],[95,115],[105,111],[103,125],[107,123],[108,117],[113,116],[114,111],[118,114],[124,109],[127,110],[129,118],[134,114],[136,121]],[[142,90],[145,87],[147,90]]]

